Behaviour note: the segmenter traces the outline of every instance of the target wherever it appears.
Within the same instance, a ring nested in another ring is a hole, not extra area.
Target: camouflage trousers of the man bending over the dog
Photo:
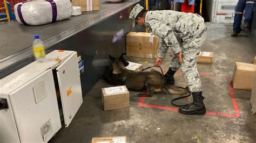
[[[183,73],[183,76],[188,84],[188,88],[191,92],[202,91],[201,79],[197,70],[197,60],[201,45],[203,45],[206,39],[206,31],[204,31],[203,34],[199,34],[198,37],[188,44],[183,45],[182,64],[178,62],[176,55],[173,55],[171,60],[170,68],[173,71],[177,71],[179,68],[181,68],[181,72]]]

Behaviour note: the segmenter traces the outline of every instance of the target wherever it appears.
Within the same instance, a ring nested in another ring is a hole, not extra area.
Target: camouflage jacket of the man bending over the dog
[[[148,11],[145,27],[164,41],[161,47],[172,47],[174,54],[181,52],[184,44],[195,39],[206,29],[204,18],[201,16],[172,10]],[[161,49],[161,47],[159,47],[158,57],[163,58],[167,49]]]

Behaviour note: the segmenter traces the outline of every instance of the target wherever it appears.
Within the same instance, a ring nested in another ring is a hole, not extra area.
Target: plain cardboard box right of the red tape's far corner
[[[252,90],[255,65],[251,63],[235,62],[233,73],[233,88]]]

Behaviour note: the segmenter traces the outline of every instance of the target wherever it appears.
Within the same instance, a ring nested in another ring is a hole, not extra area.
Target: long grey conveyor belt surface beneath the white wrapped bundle
[[[138,2],[139,0],[125,0],[120,3],[102,2],[100,11],[83,12],[80,16],[42,26],[25,26],[17,22],[2,24],[0,25],[0,71],[24,57],[31,56],[33,35],[40,35],[45,47],[49,48]]]

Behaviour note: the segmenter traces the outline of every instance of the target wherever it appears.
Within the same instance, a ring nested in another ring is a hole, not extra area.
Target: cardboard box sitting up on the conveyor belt
[[[72,0],[73,6],[81,6],[81,11],[99,10],[99,0]]]

